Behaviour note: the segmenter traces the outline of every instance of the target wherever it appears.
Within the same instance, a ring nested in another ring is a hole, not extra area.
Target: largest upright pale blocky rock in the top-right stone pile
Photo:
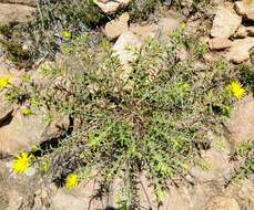
[[[213,21],[211,35],[214,38],[230,38],[241,25],[242,18],[227,8],[219,7]]]

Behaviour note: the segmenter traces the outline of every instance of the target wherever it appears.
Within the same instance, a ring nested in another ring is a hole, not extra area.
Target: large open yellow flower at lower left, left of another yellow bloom
[[[13,160],[13,170],[16,174],[23,174],[26,170],[31,166],[31,159],[32,156],[28,153],[20,154],[14,160]]]

